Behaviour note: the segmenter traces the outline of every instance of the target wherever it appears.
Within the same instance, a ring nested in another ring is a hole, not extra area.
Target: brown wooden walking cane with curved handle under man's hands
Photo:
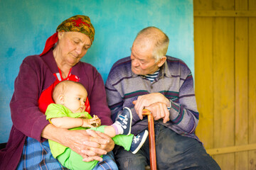
[[[156,170],[156,143],[154,139],[154,118],[152,113],[147,109],[143,109],[142,115],[148,116],[150,169]]]

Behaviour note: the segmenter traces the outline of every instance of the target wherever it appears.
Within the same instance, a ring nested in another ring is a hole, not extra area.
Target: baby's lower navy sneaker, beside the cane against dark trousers
[[[132,140],[132,145],[130,148],[130,151],[133,154],[136,154],[139,149],[141,149],[142,145],[144,145],[144,142],[146,141],[146,137],[149,135],[149,131],[144,130],[140,132],[138,135],[134,136]]]

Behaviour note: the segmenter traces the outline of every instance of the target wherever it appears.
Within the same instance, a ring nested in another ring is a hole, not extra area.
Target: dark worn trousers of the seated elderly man
[[[220,169],[206,153],[203,145],[190,137],[178,135],[159,123],[155,124],[157,169]],[[145,169],[149,165],[149,140],[137,152],[116,148],[115,160],[119,169]]]

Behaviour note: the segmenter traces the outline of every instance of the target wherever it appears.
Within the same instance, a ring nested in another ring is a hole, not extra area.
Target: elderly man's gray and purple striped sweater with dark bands
[[[174,130],[179,135],[198,140],[194,132],[199,113],[191,70],[183,61],[166,57],[167,60],[160,68],[159,76],[153,82],[132,72],[130,57],[114,63],[105,85],[112,120],[117,118],[122,108],[131,108],[132,133],[137,135],[146,129],[148,124],[146,117],[143,120],[139,119],[132,101],[137,100],[138,96],[159,92],[171,101],[170,121],[165,124],[163,120],[156,122]]]

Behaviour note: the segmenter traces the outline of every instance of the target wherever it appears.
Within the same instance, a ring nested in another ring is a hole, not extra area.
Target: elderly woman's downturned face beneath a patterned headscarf
[[[70,67],[77,64],[91,46],[90,38],[83,33],[59,32],[58,39],[55,60]]]

